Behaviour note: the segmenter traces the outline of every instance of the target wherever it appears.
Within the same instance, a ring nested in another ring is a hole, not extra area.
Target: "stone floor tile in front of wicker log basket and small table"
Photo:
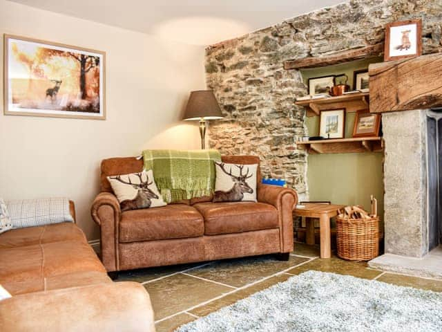
[[[288,270],[287,273],[298,275],[308,270],[339,273],[340,275],[352,275],[354,277],[364,279],[373,279],[382,273],[381,271],[367,268],[367,263],[345,261],[343,259],[339,259],[338,257],[332,257],[329,259],[314,259],[314,261],[310,261],[302,266]]]

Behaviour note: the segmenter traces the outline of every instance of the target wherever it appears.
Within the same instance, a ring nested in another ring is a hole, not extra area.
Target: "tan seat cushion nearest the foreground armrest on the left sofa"
[[[61,241],[32,246],[0,249],[0,284],[14,289],[14,293],[34,291],[34,279],[41,287],[51,278],[70,273],[91,272],[106,274],[104,266],[88,243]],[[66,286],[70,286],[66,279]],[[44,289],[44,288],[43,288]]]

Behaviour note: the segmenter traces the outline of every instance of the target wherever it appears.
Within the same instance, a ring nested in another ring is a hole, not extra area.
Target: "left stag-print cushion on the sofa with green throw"
[[[166,205],[153,180],[152,169],[140,173],[108,176],[108,181],[122,211]]]

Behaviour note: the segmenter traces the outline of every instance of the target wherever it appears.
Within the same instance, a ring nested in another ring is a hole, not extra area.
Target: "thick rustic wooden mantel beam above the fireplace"
[[[442,54],[369,65],[370,112],[442,107]]]

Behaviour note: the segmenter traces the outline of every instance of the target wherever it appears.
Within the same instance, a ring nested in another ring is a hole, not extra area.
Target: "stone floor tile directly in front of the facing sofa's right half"
[[[305,261],[308,259],[296,256],[290,256],[289,261],[278,261],[274,255],[265,255],[216,261],[188,273],[229,286],[242,287]]]

